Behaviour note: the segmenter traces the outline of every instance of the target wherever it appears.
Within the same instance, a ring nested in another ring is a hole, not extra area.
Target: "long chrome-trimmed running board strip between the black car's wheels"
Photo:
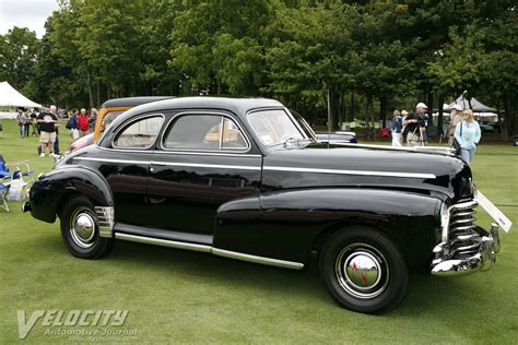
[[[192,251],[201,251],[201,252],[212,253],[217,257],[260,263],[260,264],[278,266],[278,267],[283,267],[283,269],[302,270],[304,267],[304,264],[301,262],[251,255],[251,254],[240,253],[237,251],[229,251],[229,250],[214,248],[211,246],[198,245],[198,243],[181,242],[181,241],[175,241],[175,240],[168,240],[168,239],[162,239],[162,238],[123,234],[123,233],[115,233],[115,238],[132,241],[132,242],[139,242],[139,243],[155,245],[155,246],[186,249],[186,250],[192,250]]]

